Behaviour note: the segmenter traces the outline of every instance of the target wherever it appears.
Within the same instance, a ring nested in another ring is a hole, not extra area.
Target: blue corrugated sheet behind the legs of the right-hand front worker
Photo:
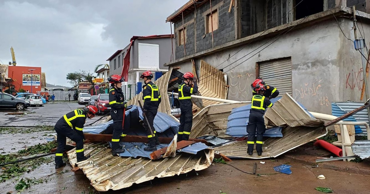
[[[279,98],[271,99],[272,103],[275,103]],[[230,115],[228,116],[228,123],[226,129],[226,135],[233,137],[241,137],[247,135],[247,125],[246,123],[249,120],[249,111],[251,105],[245,105],[239,108],[232,109]],[[275,127],[273,129],[266,130],[266,133],[263,134],[266,137],[283,137],[281,133],[281,127]]]

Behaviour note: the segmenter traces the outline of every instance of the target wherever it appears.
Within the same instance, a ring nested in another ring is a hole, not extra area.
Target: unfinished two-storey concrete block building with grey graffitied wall
[[[167,65],[192,71],[194,59],[199,75],[206,61],[227,75],[236,101],[249,101],[261,76],[310,111],[331,114],[331,102],[360,102],[363,88],[351,6],[357,38],[370,37],[370,0],[190,0],[166,20],[175,34]]]

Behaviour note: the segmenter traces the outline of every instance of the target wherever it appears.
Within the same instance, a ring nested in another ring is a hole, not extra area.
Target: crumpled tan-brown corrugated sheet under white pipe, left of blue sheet
[[[248,103],[223,103],[209,105],[198,112],[193,118],[190,138],[205,135],[230,137],[225,135],[228,117],[233,108],[244,106]]]

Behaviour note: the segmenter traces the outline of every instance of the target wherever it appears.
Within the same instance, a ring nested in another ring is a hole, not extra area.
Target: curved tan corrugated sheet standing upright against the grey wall
[[[200,75],[198,75],[198,91],[201,93],[201,96],[226,99],[228,95],[228,86],[225,80],[226,74],[203,60],[201,60],[200,70]],[[194,67],[193,72],[195,72]],[[202,101],[204,107],[222,103],[202,99],[199,100]],[[201,108],[193,105],[193,110],[199,112]]]

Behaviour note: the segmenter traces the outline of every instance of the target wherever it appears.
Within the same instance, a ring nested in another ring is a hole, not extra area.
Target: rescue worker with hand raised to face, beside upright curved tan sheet
[[[180,101],[180,127],[177,141],[189,140],[190,130],[193,125],[193,103],[191,95],[198,92],[198,85],[194,80],[194,74],[186,72],[183,76],[184,81],[179,85],[179,101]]]

